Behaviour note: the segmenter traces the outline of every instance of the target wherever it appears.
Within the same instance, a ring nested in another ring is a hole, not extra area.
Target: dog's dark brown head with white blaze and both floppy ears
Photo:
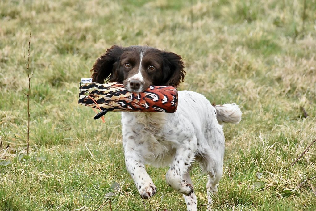
[[[91,77],[100,84],[106,78],[123,82],[128,91],[138,93],[150,85],[179,86],[185,76],[183,68],[181,57],[175,53],[143,46],[112,46],[95,61]]]

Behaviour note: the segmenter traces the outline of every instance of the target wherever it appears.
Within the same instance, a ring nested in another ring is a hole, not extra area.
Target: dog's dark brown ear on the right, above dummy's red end
[[[183,70],[184,64],[181,56],[171,53],[163,52],[164,57],[164,81],[167,86],[179,86],[183,82],[186,72]]]

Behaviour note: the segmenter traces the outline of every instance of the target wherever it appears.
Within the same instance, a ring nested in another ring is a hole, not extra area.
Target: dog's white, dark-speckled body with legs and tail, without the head
[[[122,112],[123,146],[128,172],[142,198],[156,193],[156,187],[145,170],[145,164],[169,165],[167,184],[184,194],[188,210],[197,210],[196,196],[190,178],[191,164],[197,160],[208,174],[208,210],[211,195],[223,172],[225,139],[224,122],[239,122],[241,112],[236,104],[213,107],[196,92],[179,91],[175,113]],[[217,115],[216,115],[217,114]]]

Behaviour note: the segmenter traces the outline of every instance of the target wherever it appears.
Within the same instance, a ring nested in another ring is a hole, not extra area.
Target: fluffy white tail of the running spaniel
[[[241,111],[235,103],[214,106],[216,109],[216,118],[221,125],[223,122],[239,123],[241,121]]]

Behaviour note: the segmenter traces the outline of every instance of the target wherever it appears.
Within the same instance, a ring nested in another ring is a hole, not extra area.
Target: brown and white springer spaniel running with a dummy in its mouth
[[[181,57],[151,47],[112,46],[96,60],[92,81],[106,78],[123,82],[130,92],[143,92],[150,85],[179,86],[183,81]],[[223,173],[225,139],[222,122],[238,123],[241,112],[236,104],[215,107],[201,94],[179,91],[175,113],[122,112],[122,133],[127,171],[144,199],[157,188],[147,174],[145,164],[169,165],[166,182],[183,194],[187,209],[197,210],[197,199],[190,178],[194,160],[208,174],[207,210]]]

